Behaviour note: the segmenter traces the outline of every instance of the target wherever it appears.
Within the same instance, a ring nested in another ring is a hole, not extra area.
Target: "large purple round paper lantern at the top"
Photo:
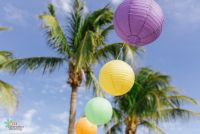
[[[163,18],[154,0],[125,0],[115,12],[115,31],[126,43],[144,46],[160,36]]]

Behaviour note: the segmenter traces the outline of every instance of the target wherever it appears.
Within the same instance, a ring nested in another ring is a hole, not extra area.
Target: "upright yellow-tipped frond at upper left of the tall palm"
[[[48,45],[55,49],[59,54],[70,57],[70,46],[55,17],[55,9],[51,4],[49,5],[49,12],[50,14],[44,13],[39,15],[39,18],[43,21],[43,28],[46,30]]]

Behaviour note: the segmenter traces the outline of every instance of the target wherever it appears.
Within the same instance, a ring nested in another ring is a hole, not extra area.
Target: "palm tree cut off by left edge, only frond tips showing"
[[[8,30],[8,27],[0,27],[0,31]],[[0,69],[2,65],[12,59],[12,53],[8,51],[0,51]],[[10,84],[0,80],[0,106],[7,109],[9,114],[13,114],[18,104],[17,90]]]

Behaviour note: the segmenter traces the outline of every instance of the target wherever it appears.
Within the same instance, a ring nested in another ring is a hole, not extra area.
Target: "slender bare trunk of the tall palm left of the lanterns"
[[[75,134],[77,88],[78,87],[76,87],[76,86],[72,86],[71,99],[70,99],[68,134]]]

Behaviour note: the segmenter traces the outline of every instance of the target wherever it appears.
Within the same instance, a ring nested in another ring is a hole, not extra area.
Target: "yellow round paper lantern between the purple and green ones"
[[[126,94],[133,87],[134,81],[133,69],[121,60],[110,61],[100,70],[100,86],[113,96]]]

